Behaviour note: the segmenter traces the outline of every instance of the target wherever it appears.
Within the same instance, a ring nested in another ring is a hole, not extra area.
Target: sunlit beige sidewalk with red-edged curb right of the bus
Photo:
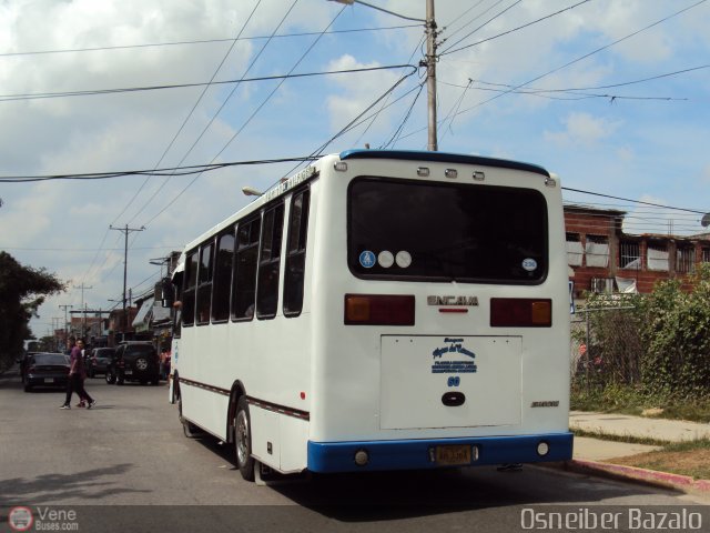
[[[569,428],[570,430],[579,429],[606,435],[655,439],[665,442],[710,439],[710,424],[612,413],[571,411],[569,413]],[[710,495],[710,480],[693,480],[687,475],[656,472],[608,462],[613,457],[636,455],[660,449],[662,446],[576,436],[572,460],[568,461],[566,466],[578,472],[621,476],[671,486],[683,492],[701,492],[703,495]]]

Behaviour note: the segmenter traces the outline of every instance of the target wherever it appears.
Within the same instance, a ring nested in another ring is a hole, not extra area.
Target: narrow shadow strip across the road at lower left
[[[115,494],[150,492],[120,486],[116,485],[116,481],[111,480],[111,476],[114,476],[120,481],[131,469],[132,464],[115,464],[73,474],[43,474],[36,477],[0,480],[0,506],[72,499],[91,503]]]

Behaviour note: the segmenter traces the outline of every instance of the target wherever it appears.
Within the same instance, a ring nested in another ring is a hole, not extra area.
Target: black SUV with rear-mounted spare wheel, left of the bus
[[[124,381],[160,383],[160,358],[150,342],[122,342],[106,368],[106,383],[122,385]]]

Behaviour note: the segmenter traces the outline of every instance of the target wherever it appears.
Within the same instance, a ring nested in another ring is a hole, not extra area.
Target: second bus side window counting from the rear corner
[[[256,318],[273,319],[278,308],[278,269],[281,241],[284,232],[284,204],[264,213],[262,250],[258,258],[258,282],[256,285]]]

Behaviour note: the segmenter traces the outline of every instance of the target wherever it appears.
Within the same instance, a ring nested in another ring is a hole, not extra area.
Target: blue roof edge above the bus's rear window
[[[499,169],[524,170],[547,178],[550,173],[537,164],[506,159],[484,158],[480,155],[465,155],[462,153],[427,152],[416,150],[346,150],[339,153],[342,161],[348,159],[398,159],[400,161],[432,161],[442,163],[478,164]]]

